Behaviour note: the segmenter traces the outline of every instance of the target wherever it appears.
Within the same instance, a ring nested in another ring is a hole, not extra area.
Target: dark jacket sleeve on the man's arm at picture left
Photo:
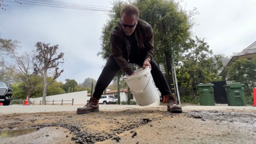
[[[116,60],[119,67],[122,68],[124,72],[130,76],[134,71],[128,64],[128,61],[124,58],[123,46],[120,43],[121,39],[115,34],[111,33],[110,42],[114,59]]]

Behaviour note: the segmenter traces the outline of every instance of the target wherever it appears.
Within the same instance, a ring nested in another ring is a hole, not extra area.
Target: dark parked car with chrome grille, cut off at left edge
[[[8,87],[4,82],[0,82],[0,102],[4,106],[9,106],[12,99],[12,87]]]

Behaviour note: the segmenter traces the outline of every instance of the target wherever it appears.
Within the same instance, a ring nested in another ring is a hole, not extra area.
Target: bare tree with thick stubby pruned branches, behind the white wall
[[[57,49],[59,48],[59,45],[49,46],[50,44],[44,44],[42,42],[37,42],[36,52],[38,54],[36,55],[36,60],[38,61],[35,66],[38,72],[43,76],[44,78],[44,91],[43,91],[43,101],[46,99],[46,93],[47,93],[47,87],[52,84],[52,82],[57,79],[60,74],[64,71],[59,70],[58,66],[60,63],[64,63],[63,56],[64,53],[60,52],[59,55],[57,55]],[[54,74],[52,76],[52,81],[47,82],[47,72],[50,69],[55,69]]]

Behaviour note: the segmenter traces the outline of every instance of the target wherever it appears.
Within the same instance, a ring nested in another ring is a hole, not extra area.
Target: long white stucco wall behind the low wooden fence
[[[76,104],[86,104],[87,100],[90,100],[90,97],[87,96],[87,91],[71,92],[71,93],[58,94],[58,95],[46,97],[46,101],[54,100],[54,103],[56,104],[61,104],[61,101],[57,101],[57,100],[62,100],[62,99],[63,100],[74,99],[74,105],[76,105]],[[40,100],[43,100],[43,97],[30,99],[30,101],[34,101],[34,100],[35,100],[35,104],[39,104]],[[72,103],[72,101],[63,101],[63,103]],[[52,102],[46,102],[46,104],[52,104]]]

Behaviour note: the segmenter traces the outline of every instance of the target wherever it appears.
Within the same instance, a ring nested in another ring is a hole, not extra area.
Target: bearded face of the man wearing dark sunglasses
[[[122,28],[125,35],[130,36],[134,32],[137,25],[136,15],[127,16],[125,13],[122,16]]]

